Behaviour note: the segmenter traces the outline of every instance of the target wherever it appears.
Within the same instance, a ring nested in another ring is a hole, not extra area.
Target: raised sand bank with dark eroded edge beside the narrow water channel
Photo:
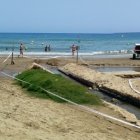
[[[88,81],[91,85],[93,84],[93,86],[98,87],[100,90],[113,93],[116,96],[121,96],[122,98],[140,105],[140,94],[131,89],[128,79],[115,76],[111,73],[105,74],[97,72],[74,63],[67,64],[59,69],[67,74]]]

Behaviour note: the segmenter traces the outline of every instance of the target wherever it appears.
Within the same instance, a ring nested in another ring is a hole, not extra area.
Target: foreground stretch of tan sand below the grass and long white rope
[[[139,140],[140,130],[124,127],[69,104],[24,94],[0,78],[1,140]]]

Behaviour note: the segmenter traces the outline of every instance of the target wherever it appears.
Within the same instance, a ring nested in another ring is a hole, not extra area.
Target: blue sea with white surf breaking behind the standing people
[[[0,54],[18,53],[20,43],[26,47],[25,53],[31,54],[45,53],[46,45],[51,46],[49,53],[69,54],[72,44],[80,46],[81,54],[129,54],[135,43],[140,43],[140,33],[0,33]]]

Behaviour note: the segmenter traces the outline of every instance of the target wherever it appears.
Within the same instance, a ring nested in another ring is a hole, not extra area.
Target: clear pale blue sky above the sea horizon
[[[140,32],[140,0],[0,0],[0,32]]]

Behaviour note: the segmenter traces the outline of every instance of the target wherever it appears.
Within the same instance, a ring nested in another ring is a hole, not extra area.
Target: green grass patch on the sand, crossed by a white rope
[[[63,100],[46,93],[40,87],[47,91],[53,92],[61,97],[76,102],[78,104],[94,104],[100,105],[101,100],[97,95],[90,93],[86,87],[75,83],[74,81],[64,78],[61,75],[50,74],[44,70],[31,69],[16,76],[17,78],[31,85],[18,81],[18,84],[26,88],[28,93],[39,98],[51,98],[57,102]]]

